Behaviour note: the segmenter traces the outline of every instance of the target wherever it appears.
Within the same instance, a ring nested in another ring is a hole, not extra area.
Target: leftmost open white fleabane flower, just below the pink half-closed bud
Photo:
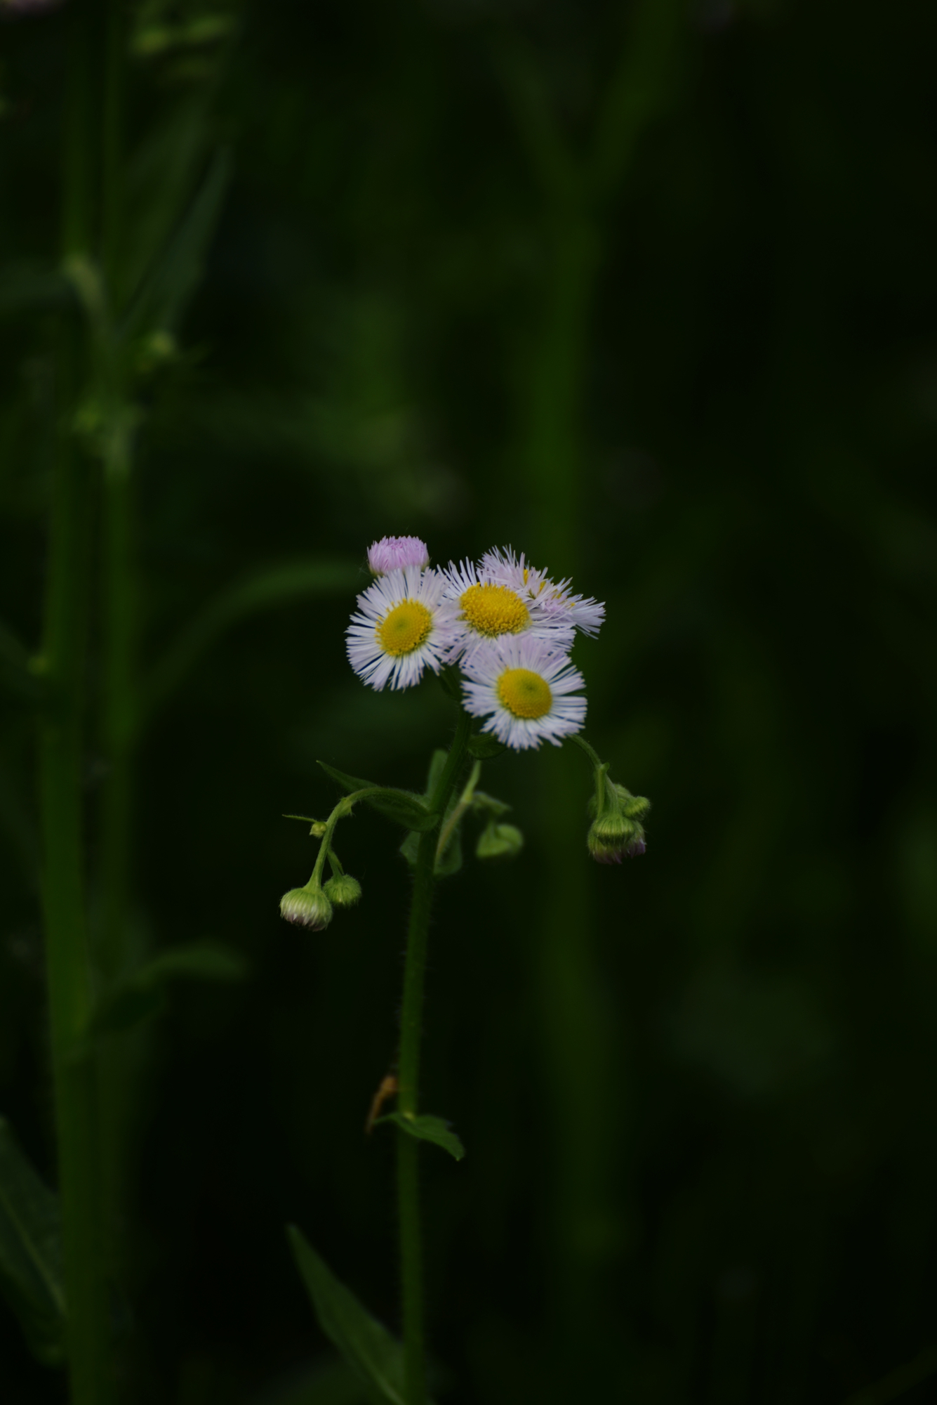
[[[424,669],[439,673],[459,636],[457,607],[443,599],[436,570],[404,566],[379,576],[358,597],[346,631],[348,659],[372,688],[410,688]]]

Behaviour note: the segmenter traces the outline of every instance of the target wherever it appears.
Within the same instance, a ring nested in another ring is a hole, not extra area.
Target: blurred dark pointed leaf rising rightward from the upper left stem
[[[157,330],[173,332],[178,326],[202,277],[230,174],[230,152],[216,152],[188,214],[130,303],[121,327],[123,337],[132,339]]]

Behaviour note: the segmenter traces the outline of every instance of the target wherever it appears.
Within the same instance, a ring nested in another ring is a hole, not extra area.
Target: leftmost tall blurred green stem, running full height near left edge
[[[70,32],[63,114],[63,253],[90,243],[91,34],[84,15]],[[58,362],[58,441],[52,482],[42,667],[49,702],[39,735],[45,954],[67,1301],[72,1405],[112,1399],[104,1280],[97,1093],[84,1040],[93,1007],[84,906],[83,715],[91,565],[91,468],[72,433],[81,336],[62,327]]]

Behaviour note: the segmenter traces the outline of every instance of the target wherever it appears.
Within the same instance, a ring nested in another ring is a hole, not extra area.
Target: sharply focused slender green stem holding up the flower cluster
[[[446,759],[431,809],[442,816],[466,756],[471,718],[461,708],[452,750]],[[426,941],[436,867],[436,829],[419,836],[414,892],[407,930],[404,999],[400,1013],[400,1061],[397,1065],[397,1107],[405,1117],[415,1117],[419,1094],[419,1037],[422,1033],[424,985],[426,976]],[[404,1371],[407,1405],[425,1405],[426,1360],[424,1342],[422,1235],[419,1225],[419,1142],[397,1131],[397,1203],[400,1214],[400,1259],[404,1290]]]

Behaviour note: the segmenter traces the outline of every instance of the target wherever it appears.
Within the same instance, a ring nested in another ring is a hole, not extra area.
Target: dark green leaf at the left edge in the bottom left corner
[[[29,1350],[45,1366],[65,1360],[65,1288],[59,1201],[0,1117],[0,1288]]]

